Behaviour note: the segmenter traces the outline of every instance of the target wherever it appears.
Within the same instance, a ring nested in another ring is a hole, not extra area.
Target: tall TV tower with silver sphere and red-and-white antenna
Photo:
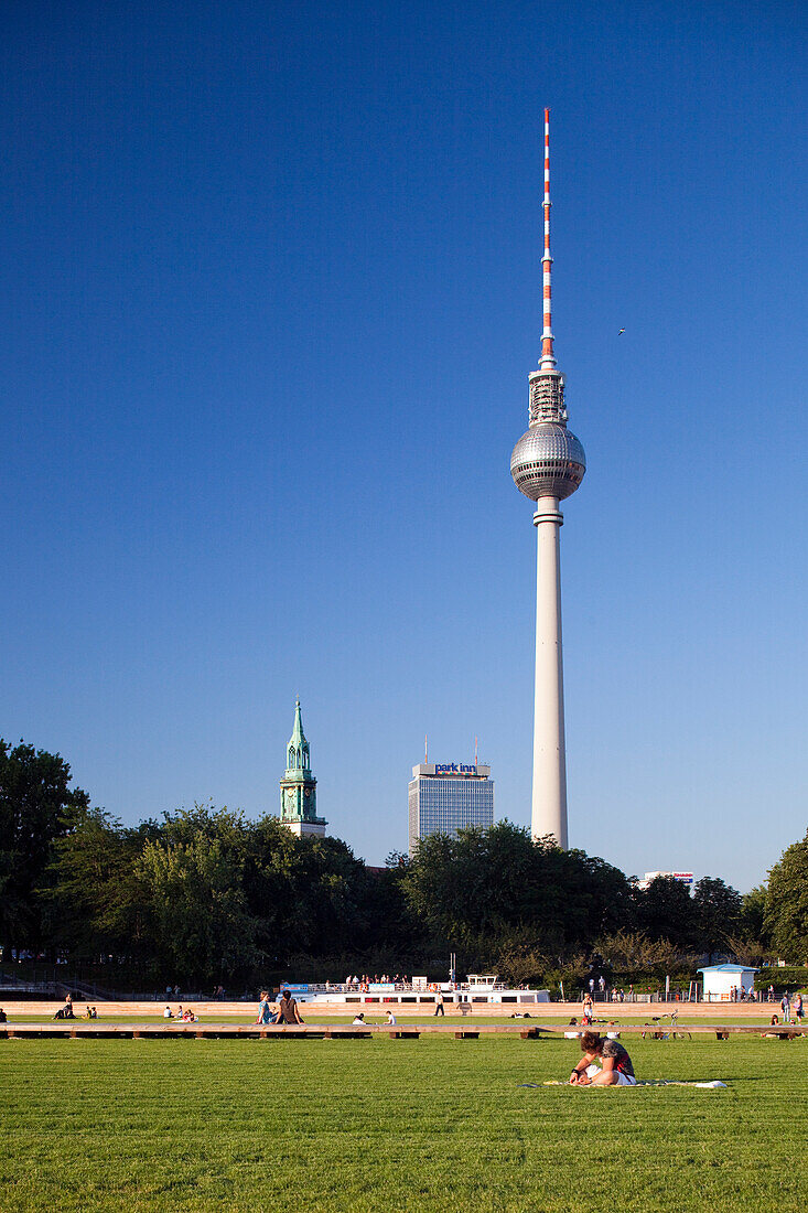
[[[545,321],[539,370],[528,376],[529,428],[513,448],[511,475],[536,502],[536,680],[533,717],[534,838],[553,835],[567,848],[567,756],[562,661],[558,503],[571,496],[586,472],[584,448],[567,428],[564,376],[557,369],[551,321],[550,110],[545,109],[545,251],[541,258]]]

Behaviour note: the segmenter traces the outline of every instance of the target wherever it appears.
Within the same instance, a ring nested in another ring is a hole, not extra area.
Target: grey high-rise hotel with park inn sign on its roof
[[[494,780],[490,767],[421,763],[409,785],[410,855],[433,833],[455,837],[468,826],[494,825]]]

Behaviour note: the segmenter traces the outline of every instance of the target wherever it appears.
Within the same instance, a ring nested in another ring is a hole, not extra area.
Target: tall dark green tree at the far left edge
[[[0,943],[10,950],[44,946],[52,847],[90,803],[70,780],[59,754],[0,738]]]

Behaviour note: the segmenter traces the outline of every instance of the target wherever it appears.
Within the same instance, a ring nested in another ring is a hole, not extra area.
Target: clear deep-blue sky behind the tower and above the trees
[[[126,822],[256,815],[300,694],[370,862],[425,733],[529,822],[550,106],[570,841],[763,879],[807,819],[804,5],[0,24],[0,733]]]

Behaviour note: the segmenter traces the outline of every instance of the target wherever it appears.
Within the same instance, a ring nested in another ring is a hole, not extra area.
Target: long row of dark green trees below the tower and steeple
[[[275,818],[195,805],[127,827],[70,787],[69,765],[0,740],[0,945],[73,962],[112,958],[183,985],[376,969],[495,966],[513,980],[604,968],[802,961],[808,836],[768,889],[706,877],[693,896],[510,822],[425,839],[368,869],[337,838],[297,839]]]

